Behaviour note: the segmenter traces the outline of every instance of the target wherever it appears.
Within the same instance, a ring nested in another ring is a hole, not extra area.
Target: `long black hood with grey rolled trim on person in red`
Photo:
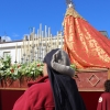
[[[86,110],[82,98],[79,95],[70,68],[70,61],[63,50],[52,50],[44,57],[47,65],[48,78],[51,80],[55,110]]]

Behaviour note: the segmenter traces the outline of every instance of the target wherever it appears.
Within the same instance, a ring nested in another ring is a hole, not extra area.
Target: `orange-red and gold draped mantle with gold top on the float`
[[[64,50],[77,68],[110,68],[110,41],[73,7],[64,19]]]

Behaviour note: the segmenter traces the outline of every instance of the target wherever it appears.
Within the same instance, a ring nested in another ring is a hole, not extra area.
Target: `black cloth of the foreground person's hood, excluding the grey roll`
[[[53,89],[55,110],[86,110],[75,79],[55,72],[51,66],[52,57],[57,51],[58,48],[51,51],[44,58]]]

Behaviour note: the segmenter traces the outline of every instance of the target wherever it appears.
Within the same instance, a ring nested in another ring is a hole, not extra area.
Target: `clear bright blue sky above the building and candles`
[[[75,9],[94,28],[110,36],[110,0],[74,0]],[[22,40],[30,26],[51,28],[52,34],[62,30],[66,0],[0,0],[0,35]]]

